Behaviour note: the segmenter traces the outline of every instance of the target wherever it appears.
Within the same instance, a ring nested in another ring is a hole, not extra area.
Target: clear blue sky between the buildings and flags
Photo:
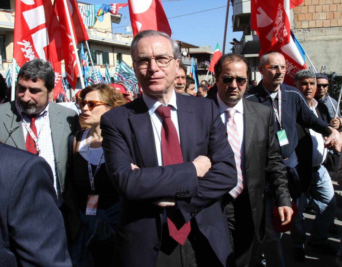
[[[108,0],[107,0],[108,1]],[[91,4],[105,4],[103,0],[85,0]],[[127,3],[127,1],[115,0],[113,3]],[[172,30],[172,38],[181,40],[183,42],[195,44],[197,46],[211,46],[215,50],[216,43],[219,43],[220,50],[222,51],[224,22],[226,16],[226,0],[177,0],[177,1],[161,1],[169,18],[169,24]],[[218,8],[223,7],[223,8]],[[218,8],[201,13],[181,16],[177,18],[170,18],[174,16],[194,13],[198,11]],[[122,14],[122,19],[119,25],[115,24],[114,27],[124,26],[130,24],[128,6],[121,8],[119,13]],[[229,8],[228,26],[227,26],[227,39],[226,50],[232,47],[229,42],[236,38],[240,40],[242,31],[234,32],[232,28],[232,7]],[[124,16],[126,16],[126,23],[124,23]],[[115,28],[118,33],[126,33],[125,27]]]

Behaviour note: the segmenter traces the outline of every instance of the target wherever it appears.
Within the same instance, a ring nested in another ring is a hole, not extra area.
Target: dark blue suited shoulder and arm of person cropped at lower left
[[[0,265],[71,267],[49,164],[2,143],[0,162]]]

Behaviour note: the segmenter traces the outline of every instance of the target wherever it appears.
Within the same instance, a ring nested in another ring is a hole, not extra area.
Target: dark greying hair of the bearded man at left
[[[55,72],[50,62],[35,58],[26,62],[19,70],[18,80],[32,80],[37,79],[44,81],[44,86],[50,92],[55,87]]]

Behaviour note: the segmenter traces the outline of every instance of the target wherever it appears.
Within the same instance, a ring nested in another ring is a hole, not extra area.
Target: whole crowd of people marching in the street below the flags
[[[0,105],[1,266],[278,267],[286,231],[296,260],[309,245],[342,266],[327,171],[342,119],[326,74],[304,69],[286,85],[284,56],[269,51],[258,83],[229,53],[196,92],[179,51],[141,31],[141,96],[101,83],[68,106],[50,101],[49,62],[21,67],[15,100]]]

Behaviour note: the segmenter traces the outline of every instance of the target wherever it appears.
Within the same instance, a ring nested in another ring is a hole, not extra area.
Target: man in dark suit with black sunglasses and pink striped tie
[[[269,107],[243,98],[249,68],[243,55],[223,55],[214,67],[218,93],[211,97],[227,127],[238,173],[241,170],[240,190],[236,194],[229,192],[222,199],[237,266],[249,266],[254,237],[259,242],[264,239],[266,179],[275,196],[282,225],[289,223],[293,212],[286,168],[273,134],[273,112]]]

